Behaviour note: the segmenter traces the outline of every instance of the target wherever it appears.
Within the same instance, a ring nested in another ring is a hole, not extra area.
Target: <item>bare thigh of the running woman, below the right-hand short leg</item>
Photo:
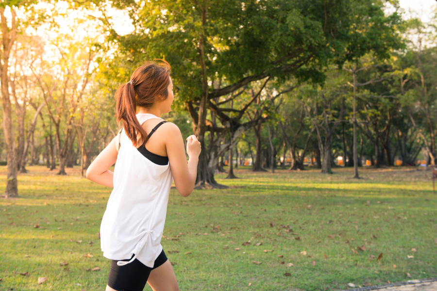
[[[147,283],[153,291],[179,291],[178,281],[169,260],[151,270]]]

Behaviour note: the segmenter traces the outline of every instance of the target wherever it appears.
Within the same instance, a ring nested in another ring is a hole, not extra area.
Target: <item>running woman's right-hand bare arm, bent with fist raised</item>
[[[187,163],[181,130],[172,123],[168,124],[166,128],[168,129],[166,150],[174,185],[179,194],[187,197],[193,191],[196,183],[201,144],[194,135],[187,138],[186,152],[189,157]]]

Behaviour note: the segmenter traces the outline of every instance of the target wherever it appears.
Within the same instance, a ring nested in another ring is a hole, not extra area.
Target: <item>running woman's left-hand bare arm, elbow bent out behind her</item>
[[[109,171],[109,167],[117,161],[117,136],[101,151],[97,158],[89,165],[86,170],[86,178],[103,186],[114,187],[114,173]]]

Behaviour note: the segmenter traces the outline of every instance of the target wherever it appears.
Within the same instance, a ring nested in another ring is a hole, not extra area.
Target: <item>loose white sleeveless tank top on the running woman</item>
[[[140,124],[153,114],[140,113]],[[162,119],[162,118],[160,118]],[[173,176],[170,164],[158,165],[143,156],[126,137],[118,149],[114,190],[101,220],[101,250],[107,259],[122,266],[135,258],[153,268],[162,251],[168,194]]]

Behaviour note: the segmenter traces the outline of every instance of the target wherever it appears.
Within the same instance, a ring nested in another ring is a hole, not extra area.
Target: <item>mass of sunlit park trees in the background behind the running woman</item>
[[[177,98],[167,119],[204,146],[199,187],[221,187],[214,173],[231,160],[250,161],[254,171],[353,166],[356,177],[366,162],[415,164],[424,153],[435,164],[433,22],[403,22],[397,7],[384,5],[11,3],[1,34],[13,41],[1,55],[8,58],[1,84],[10,122],[0,144],[2,160],[6,153],[11,159],[7,189],[16,187],[15,162],[23,172],[26,162],[59,167],[59,174],[74,164],[86,169],[117,132],[115,90],[153,58],[173,67]],[[13,11],[20,21],[12,21]],[[132,32],[117,32],[120,15]]]

